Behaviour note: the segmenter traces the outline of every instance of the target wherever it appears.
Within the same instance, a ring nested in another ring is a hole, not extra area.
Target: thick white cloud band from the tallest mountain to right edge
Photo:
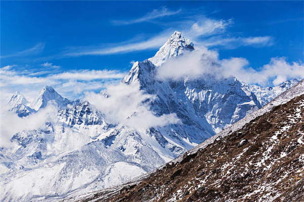
[[[219,60],[216,53],[204,50],[171,60],[157,72],[160,80],[197,79],[210,75],[215,78],[235,76],[248,84],[278,85],[288,79],[304,78],[304,65],[288,63],[285,58],[272,58],[269,64],[255,70],[244,58]]]

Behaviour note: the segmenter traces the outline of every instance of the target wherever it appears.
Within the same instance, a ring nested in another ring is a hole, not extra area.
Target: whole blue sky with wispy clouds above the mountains
[[[174,30],[255,70],[281,57],[301,66],[303,11],[302,1],[2,1],[1,67],[15,75],[2,78],[2,93],[31,98],[46,84],[69,98],[100,90],[154,56]]]

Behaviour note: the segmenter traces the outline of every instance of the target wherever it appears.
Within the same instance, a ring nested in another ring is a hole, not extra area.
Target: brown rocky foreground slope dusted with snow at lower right
[[[304,201],[303,92],[302,80],[149,175],[70,200]]]

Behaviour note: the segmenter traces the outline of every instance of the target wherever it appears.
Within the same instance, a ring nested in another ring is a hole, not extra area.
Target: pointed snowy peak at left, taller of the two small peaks
[[[45,86],[40,91],[39,95],[37,95],[37,97],[33,100],[30,107],[38,111],[39,109],[45,108],[50,100],[53,100],[60,109],[72,104],[70,100],[63,98],[60,94],[58,94],[54,88]]]

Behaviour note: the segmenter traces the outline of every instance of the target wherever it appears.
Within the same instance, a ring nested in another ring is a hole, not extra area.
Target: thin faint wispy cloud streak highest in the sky
[[[130,25],[130,24],[136,24],[136,23],[141,23],[141,22],[149,22],[151,20],[157,19],[157,18],[162,18],[165,16],[172,16],[176,15],[181,12],[181,9],[177,11],[170,11],[166,7],[162,7],[160,9],[155,9],[146,15],[136,18],[136,19],[131,19],[131,20],[113,20],[111,21],[113,25]]]

